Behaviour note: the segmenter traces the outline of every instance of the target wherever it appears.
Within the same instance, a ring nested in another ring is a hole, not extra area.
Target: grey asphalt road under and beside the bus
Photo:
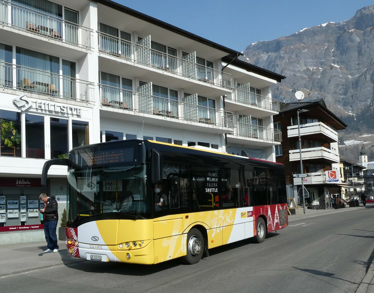
[[[0,292],[355,292],[373,258],[374,206],[290,220],[262,244],[212,249],[196,265],[82,261],[2,278]]]

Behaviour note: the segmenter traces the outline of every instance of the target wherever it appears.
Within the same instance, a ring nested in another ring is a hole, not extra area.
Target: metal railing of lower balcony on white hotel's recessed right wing
[[[267,128],[258,125],[252,125],[243,122],[236,122],[237,133],[233,135],[241,137],[256,138],[266,141],[282,142],[282,132],[278,129]]]

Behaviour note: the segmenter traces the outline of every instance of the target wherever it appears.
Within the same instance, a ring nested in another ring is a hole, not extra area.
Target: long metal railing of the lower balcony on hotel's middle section
[[[234,128],[234,113],[99,84],[101,105],[156,116]]]

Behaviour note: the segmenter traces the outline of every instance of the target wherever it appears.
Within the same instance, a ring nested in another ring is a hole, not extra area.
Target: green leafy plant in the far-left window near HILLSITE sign
[[[10,154],[15,156],[15,150],[18,149],[17,145],[21,143],[21,134],[16,130],[15,122],[5,119],[0,120],[0,135],[1,135],[1,150],[2,154]]]

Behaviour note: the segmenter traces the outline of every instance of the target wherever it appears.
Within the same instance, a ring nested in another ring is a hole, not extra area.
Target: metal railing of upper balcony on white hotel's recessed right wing
[[[269,111],[279,112],[280,110],[279,101],[276,99],[271,99],[256,93],[244,91],[239,88],[235,88],[234,92],[235,94],[227,94],[226,99]]]

